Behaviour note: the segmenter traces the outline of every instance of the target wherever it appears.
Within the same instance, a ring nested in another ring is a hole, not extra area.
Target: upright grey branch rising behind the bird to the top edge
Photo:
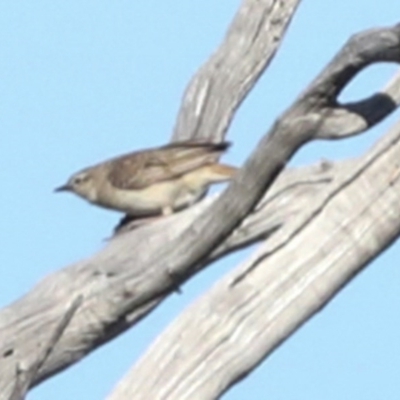
[[[186,89],[173,140],[223,139],[236,109],[275,55],[299,3],[242,2],[223,43]]]

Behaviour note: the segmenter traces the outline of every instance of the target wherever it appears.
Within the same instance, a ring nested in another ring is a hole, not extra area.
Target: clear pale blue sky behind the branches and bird
[[[167,142],[182,92],[220,43],[239,1],[37,0],[0,4],[0,304],[101,248],[118,215],[55,195],[77,169]],[[308,1],[240,109],[227,160],[240,165],[274,119],[347,38],[396,23],[395,0]],[[370,68],[343,95],[378,89],[393,65]],[[318,142],[295,158],[361,154],[399,113],[359,138]],[[248,253],[248,252],[247,252]],[[95,400],[173,318],[246,252],[209,268],[140,326],[33,390],[30,400]],[[400,259],[394,244],[224,400],[397,400]]]

